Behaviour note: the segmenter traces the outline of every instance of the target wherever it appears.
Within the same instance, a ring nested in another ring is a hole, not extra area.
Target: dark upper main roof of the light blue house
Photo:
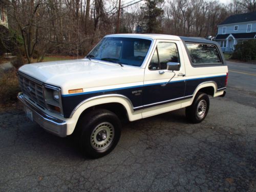
[[[227,17],[224,22],[219,25],[227,25],[227,24],[237,24],[237,23],[245,23],[245,22],[253,22],[256,21],[256,11],[250,13],[243,13],[237,15],[231,15]]]

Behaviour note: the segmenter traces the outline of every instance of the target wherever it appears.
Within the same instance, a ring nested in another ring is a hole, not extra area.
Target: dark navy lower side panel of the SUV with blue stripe
[[[199,84],[206,81],[214,81],[217,84],[218,90],[225,88],[226,75],[203,77],[195,79],[186,79],[182,81],[172,81],[166,86],[161,86],[164,83],[146,84],[145,86],[126,87],[111,90],[101,90],[93,92],[85,92],[78,94],[62,95],[63,116],[69,118],[72,111],[82,101],[91,97],[119,94],[129,98],[133,104],[134,111],[151,108],[152,106],[175,102],[182,99],[193,97],[193,94]],[[147,105],[147,106],[145,106]]]

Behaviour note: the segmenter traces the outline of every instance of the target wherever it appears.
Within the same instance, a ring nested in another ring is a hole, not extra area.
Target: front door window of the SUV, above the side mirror
[[[159,42],[148,69],[165,70],[167,62],[180,62],[177,45],[174,42]]]

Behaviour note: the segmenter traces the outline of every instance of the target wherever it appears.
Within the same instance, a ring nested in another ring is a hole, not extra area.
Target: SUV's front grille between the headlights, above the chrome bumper
[[[44,108],[45,101],[42,85],[23,76],[22,74],[18,74],[18,79],[19,86],[20,89],[22,89],[23,94],[27,95],[30,100]]]

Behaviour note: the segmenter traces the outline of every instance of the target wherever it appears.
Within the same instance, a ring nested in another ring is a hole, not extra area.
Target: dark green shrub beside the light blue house
[[[235,50],[231,59],[242,61],[256,60],[256,40],[252,39],[239,42],[234,48]]]

